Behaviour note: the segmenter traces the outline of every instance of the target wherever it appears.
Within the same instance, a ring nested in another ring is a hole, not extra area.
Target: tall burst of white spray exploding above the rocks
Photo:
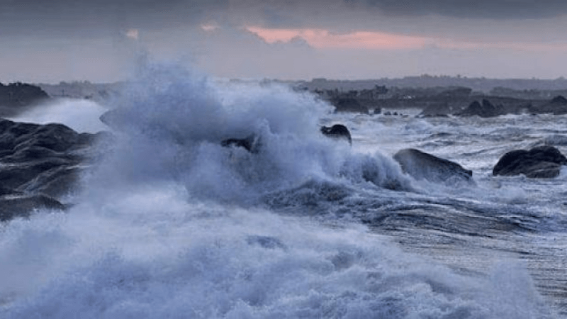
[[[315,96],[279,85],[213,86],[170,66],[149,69],[107,117],[120,138],[108,159],[113,163],[98,174],[101,183],[175,179],[197,198],[241,204],[313,178],[409,188],[391,159],[356,160],[347,143],[321,135],[319,118],[332,108]],[[224,139],[250,135],[258,140],[257,153],[221,146]]]

